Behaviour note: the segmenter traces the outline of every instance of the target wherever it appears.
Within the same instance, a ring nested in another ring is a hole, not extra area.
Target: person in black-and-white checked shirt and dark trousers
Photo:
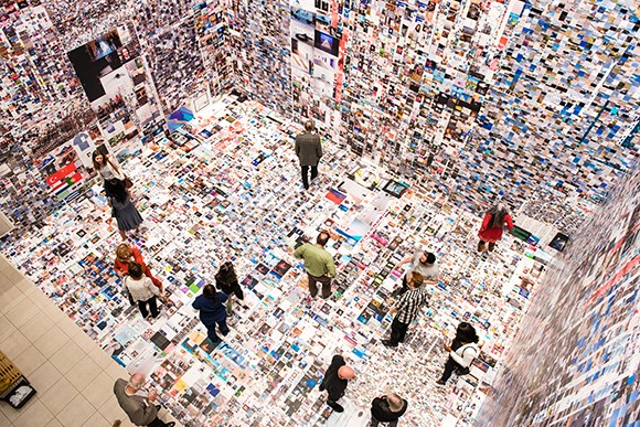
[[[409,324],[417,318],[423,303],[428,299],[425,288],[423,288],[423,275],[413,271],[407,280],[407,290],[399,298],[397,306],[390,311],[390,314],[396,313],[391,323],[391,338],[382,340],[386,346],[397,346],[398,343],[404,342]]]

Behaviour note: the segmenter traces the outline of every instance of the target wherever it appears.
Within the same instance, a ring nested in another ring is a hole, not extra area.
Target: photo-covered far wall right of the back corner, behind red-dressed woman
[[[458,205],[573,232],[637,158],[633,1],[234,4],[247,95]]]

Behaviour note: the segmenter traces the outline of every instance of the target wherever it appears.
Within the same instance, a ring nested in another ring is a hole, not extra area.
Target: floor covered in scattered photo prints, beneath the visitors
[[[294,137],[301,127],[255,102],[224,97],[124,166],[145,218],[131,242],[161,278],[171,306],[145,320],[113,270],[120,243],[96,184],[46,225],[2,253],[129,372],[147,373],[160,402],[185,426],[358,426],[371,401],[408,399],[402,425],[466,425],[490,391],[494,366],[518,330],[544,254],[505,235],[476,252],[481,218],[447,203],[437,182],[396,181],[324,140],[320,175],[302,189]],[[333,296],[308,303],[302,238],[329,231]],[[404,269],[419,250],[438,257],[440,282],[409,329],[387,349],[388,316]],[[245,290],[217,346],[191,308],[200,288],[232,259]],[[484,342],[471,374],[437,388],[446,352],[470,321]],[[326,405],[321,381],[333,354],[356,371],[341,403]]]

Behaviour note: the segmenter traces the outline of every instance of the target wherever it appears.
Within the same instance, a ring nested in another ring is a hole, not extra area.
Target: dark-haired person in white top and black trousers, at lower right
[[[449,352],[449,357],[445,364],[445,372],[442,372],[442,376],[436,382],[436,385],[445,386],[454,371],[459,375],[469,373],[473,359],[480,354],[478,341],[479,338],[473,325],[468,322],[458,324],[454,341],[450,344],[445,342],[444,346]]]

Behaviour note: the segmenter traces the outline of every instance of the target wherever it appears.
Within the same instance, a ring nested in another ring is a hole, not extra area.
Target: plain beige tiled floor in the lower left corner
[[[0,402],[0,426],[132,426],[113,393],[125,369],[2,256],[0,351],[38,391],[18,410]]]

